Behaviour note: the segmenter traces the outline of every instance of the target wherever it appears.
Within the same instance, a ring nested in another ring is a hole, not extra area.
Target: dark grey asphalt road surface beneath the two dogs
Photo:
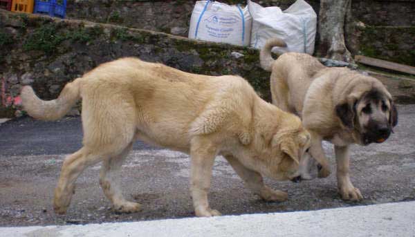
[[[241,179],[223,158],[216,159],[209,196],[211,207],[224,215],[240,215],[415,200],[415,105],[398,106],[398,111],[398,126],[387,142],[352,147],[351,181],[365,197],[362,202],[344,202],[339,198],[333,149],[326,143],[333,170],[329,178],[299,184],[266,180],[270,187],[288,191],[286,202],[260,200],[243,187]],[[142,211],[113,213],[99,187],[100,166],[96,165],[78,178],[68,213],[55,215],[53,189],[62,160],[66,154],[79,149],[81,141],[79,117],[65,117],[57,122],[26,117],[0,124],[0,226],[131,222],[194,216],[188,191],[188,156],[140,142],[123,166],[122,188],[129,200],[142,204]],[[360,215],[363,213],[358,212],[348,220],[361,221]]]

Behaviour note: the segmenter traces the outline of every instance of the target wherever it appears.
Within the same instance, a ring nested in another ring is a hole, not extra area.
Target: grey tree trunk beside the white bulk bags
[[[349,22],[352,23],[351,0],[321,0],[318,22],[320,56],[353,62],[351,53],[344,43],[345,26]],[[349,30],[351,29],[348,28],[347,31]]]

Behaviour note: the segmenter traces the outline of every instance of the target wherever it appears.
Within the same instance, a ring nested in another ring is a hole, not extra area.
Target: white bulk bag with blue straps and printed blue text
[[[252,17],[248,7],[196,1],[190,18],[190,39],[249,46]]]

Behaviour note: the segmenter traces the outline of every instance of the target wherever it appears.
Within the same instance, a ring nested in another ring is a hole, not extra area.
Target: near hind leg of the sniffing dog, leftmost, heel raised
[[[96,153],[85,146],[79,151],[69,155],[62,164],[62,171],[55,188],[53,208],[57,214],[65,214],[73,193],[75,193],[75,181],[78,176],[89,167],[104,158],[104,154]]]

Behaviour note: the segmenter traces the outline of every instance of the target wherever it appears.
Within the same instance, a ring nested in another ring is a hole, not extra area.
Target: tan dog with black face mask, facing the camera
[[[348,68],[327,68],[307,54],[285,53],[274,60],[270,39],[261,50],[261,66],[272,71],[273,104],[302,117],[311,133],[311,155],[320,162],[319,176],[329,176],[322,140],[334,144],[338,189],[345,200],[360,200],[362,194],[349,178],[349,144],[384,142],[398,122],[390,93],[378,79]]]

